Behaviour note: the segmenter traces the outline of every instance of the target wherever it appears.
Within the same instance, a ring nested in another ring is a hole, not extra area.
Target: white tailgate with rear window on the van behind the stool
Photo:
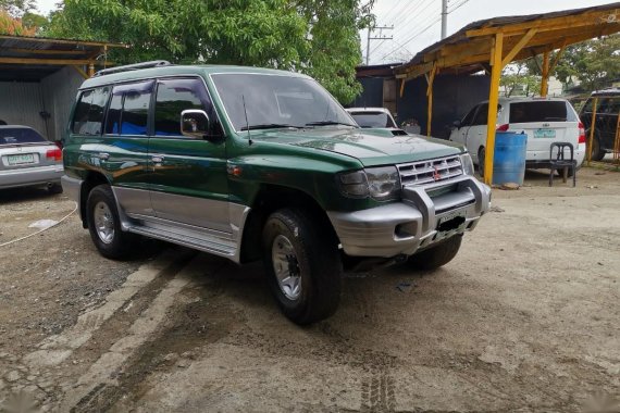
[[[528,135],[528,160],[549,159],[553,142],[570,142],[578,147],[579,118],[565,100],[530,100],[510,102],[510,132]]]

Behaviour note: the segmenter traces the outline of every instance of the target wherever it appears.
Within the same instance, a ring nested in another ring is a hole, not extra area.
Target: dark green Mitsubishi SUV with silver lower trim
[[[80,87],[66,193],[104,256],[147,236],[263,260],[296,323],[336,310],[345,270],[435,268],[488,211],[462,147],[361,129],[312,78],[148,62]]]

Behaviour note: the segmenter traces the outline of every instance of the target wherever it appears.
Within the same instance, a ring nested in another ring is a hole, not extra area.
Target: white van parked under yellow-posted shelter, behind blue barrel
[[[486,151],[487,114],[488,102],[479,103],[461,121],[455,122],[449,138],[467,147],[474,164],[479,165],[481,175]],[[553,142],[572,143],[579,166],[585,158],[585,129],[566,99],[499,98],[496,130],[528,135],[526,168],[548,167]]]

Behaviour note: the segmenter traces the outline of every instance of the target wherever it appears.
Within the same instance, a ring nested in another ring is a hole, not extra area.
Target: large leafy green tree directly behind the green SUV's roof
[[[65,0],[47,33],[128,45],[119,63],[164,59],[277,67],[317,77],[343,103],[360,91],[360,0]]]

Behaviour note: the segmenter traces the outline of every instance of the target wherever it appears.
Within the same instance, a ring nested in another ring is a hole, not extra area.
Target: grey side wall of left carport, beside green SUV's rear
[[[84,82],[73,67],[63,67],[41,80],[46,110],[51,114],[49,123],[50,140],[60,140],[66,129],[77,88]]]

